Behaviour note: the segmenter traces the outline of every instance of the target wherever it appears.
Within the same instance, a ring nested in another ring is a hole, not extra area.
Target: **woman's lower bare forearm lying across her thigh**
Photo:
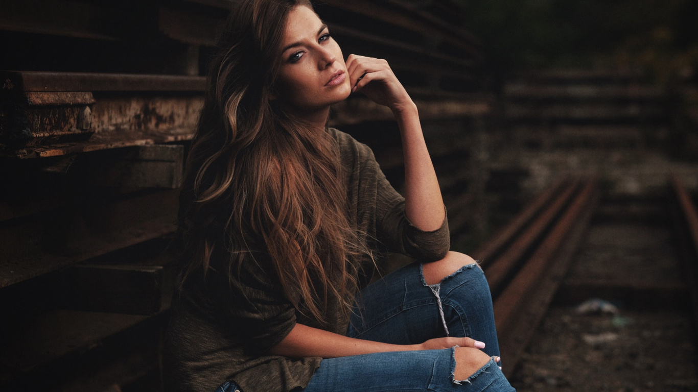
[[[337,333],[316,329],[303,324],[296,324],[291,332],[269,350],[269,354],[304,358],[321,356],[336,358],[372,354],[375,352],[396,352],[419,349],[417,345],[390,345],[371,340],[349,338]]]

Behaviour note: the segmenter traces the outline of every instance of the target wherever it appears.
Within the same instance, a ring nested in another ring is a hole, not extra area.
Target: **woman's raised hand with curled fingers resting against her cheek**
[[[361,91],[373,102],[385,105],[393,112],[415,105],[387,61],[350,54],[346,66],[352,92]]]

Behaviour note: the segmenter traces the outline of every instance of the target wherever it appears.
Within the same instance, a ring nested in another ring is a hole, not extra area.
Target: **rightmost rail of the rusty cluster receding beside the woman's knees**
[[[520,273],[507,287],[507,292],[495,302],[495,319],[507,377],[516,369],[523,349],[533,338],[535,329],[570,268],[572,257],[579,248],[600,199],[596,183],[596,179],[586,181],[554,230],[530,258],[526,269],[532,273],[528,273],[528,276]],[[521,305],[522,301],[526,301],[526,305]]]

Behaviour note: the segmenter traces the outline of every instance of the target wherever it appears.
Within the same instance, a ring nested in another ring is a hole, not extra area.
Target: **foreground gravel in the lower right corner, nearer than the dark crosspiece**
[[[698,391],[691,336],[676,312],[551,308],[510,381],[518,391]]]

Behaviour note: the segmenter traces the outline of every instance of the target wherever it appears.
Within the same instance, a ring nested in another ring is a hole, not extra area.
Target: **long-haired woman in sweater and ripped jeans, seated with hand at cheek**
[[[487,282],[448,252],[417,109],[387,63],[345,63],[306,0],[241,1],[221,48],[182,190],[168,390],[511,391]],[[404,199],[326,126],[359,91],[399,123]],[[359,292],[383,250],[424,264]]]

